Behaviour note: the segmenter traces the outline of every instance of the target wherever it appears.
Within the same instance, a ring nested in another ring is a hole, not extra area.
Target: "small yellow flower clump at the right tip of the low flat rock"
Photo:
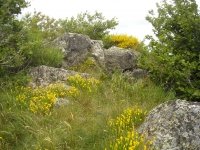
[[[95,90],[95,87],[100,84],[100,81],[93,77],[84,78],[79,74],[68,77],[67,82],[71,86],[74,86],[82,91],[89,93],[93,92]]]

